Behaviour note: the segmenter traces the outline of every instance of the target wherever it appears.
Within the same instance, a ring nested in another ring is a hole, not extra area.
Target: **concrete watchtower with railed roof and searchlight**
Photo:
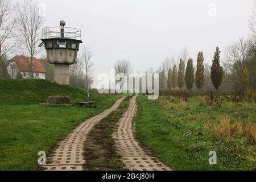
[[[76,28],[65,27],[60,21],[60,27],[43,28],[43,39],[39,47],[47,51],[48,62],[55,65],[55,82],[69,85],[69,65],[76,64],[77,51],[81,41],[81,31]]]

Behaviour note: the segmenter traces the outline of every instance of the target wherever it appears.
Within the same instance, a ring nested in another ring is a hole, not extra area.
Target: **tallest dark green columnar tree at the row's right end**
[[[216,52],[214,53],[214,57],[212,60],[212,68],[210,71],[210,78],[216,90],[218,90],[219,86],[221,85],[223,74],[224,72],[220,65],[220,50],[217,47]]]

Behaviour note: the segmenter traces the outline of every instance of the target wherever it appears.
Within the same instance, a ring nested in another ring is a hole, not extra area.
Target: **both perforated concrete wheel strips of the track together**
[[[118,108],[125,97],[92,118],[87,119],[71,133],[56,144],[47,155],[46,165],[40,169],[47,171],[82,171],[85,166],[84,143],[90,131],[98,122]],[[115,148],[125,168],[131,171],[169,171],[169,167],[159,162],[146,147],[141,146],[135,139],[135,124],[132,122],[137,113],[136,97],[131,99],[125,114],[117,123],[118,128],[113,133]],[[100,156],[98,156],[100,158]]]

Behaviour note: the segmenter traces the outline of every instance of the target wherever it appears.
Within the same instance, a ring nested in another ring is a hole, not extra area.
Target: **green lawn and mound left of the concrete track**
[[[0,80],[0,170],[34,170],[38,152],[48,151],[76,125],[108,109],[120,95],[92,94],[94,108],[40,106],[48,96],[86,101],[83,89],[44,80]]]

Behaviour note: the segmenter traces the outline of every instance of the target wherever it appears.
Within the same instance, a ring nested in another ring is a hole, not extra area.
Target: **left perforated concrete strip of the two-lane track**
[[[101,119],[108,116],[112,111],[117,109],[119,104],[125,97],[119,99],[115,104],[92,118],[87,119],[76,127],[71,133],[60,141],[55,148],[53,148],[51,154],[47,155],[46,165],[41,169],[49,171],[82,171],[82,166],[85,164],[83,156],[84,142],[86,140],[89,131],[96,123]]]

